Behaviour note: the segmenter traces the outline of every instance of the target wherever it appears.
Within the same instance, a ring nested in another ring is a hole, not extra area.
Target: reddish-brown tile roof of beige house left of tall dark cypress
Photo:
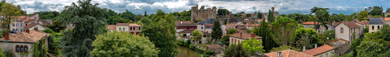
[[[241,38],[241,39],[245,39],[245,40],[248,40],[249,38],[251,39],[255,39],[255,38],[263,38],[261,36],[256,36],[255,37],[250,37],[251,34],[249,33],[236,33],[236,34],[232,34],[232,35],[229,35],[229,36],[232,36],[232,37],[236,37],[236,38]]]

